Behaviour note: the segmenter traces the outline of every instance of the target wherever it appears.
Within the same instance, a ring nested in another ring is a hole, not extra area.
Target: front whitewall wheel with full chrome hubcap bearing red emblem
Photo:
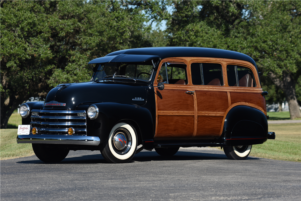
[[[135,155],[137,149],[137,134],[126,123],[116,124],[106,142],[102,144],[101,155],[109,163],[127,163]]]

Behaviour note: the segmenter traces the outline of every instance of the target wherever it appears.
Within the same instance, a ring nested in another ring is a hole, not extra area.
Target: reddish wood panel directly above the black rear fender
[[[231,105],[237,102],[246,102],[259,106],[266,113],[265,99],[261,93],[237,93],[230,92]]]

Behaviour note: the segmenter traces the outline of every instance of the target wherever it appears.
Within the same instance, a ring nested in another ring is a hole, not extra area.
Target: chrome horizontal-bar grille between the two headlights
[[[73,135],[87,135],[86,111],[70,110],[32,110],[30,127],[36,127],[38,134],[68,135],[68,129],[73,127]],[[84,116],[78,116],[84,113]]]

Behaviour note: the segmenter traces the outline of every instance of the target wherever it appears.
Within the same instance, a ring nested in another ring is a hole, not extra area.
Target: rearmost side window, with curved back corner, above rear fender
[[[249,68],[238,65],[227,65],[229,86],[256,87],[254,75]]]

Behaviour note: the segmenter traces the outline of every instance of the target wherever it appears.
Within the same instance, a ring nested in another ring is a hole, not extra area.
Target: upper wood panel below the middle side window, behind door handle
[[[225,112],[229,107],[227,92],[199,90],[195,92],[197,94],[198,112]]]

